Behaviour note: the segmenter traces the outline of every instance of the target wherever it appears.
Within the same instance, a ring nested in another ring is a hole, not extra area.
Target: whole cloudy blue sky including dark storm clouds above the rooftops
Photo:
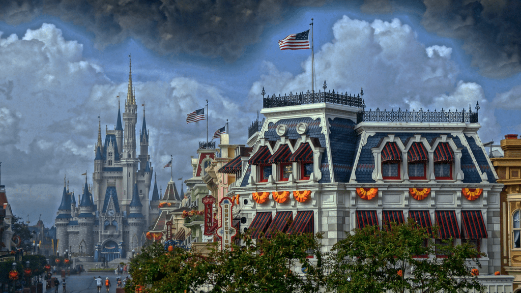
[[[16,215],[54,223],[64,174],[76,194],[80,174],[92,174],[97,116],[103,135],[114,128],[129,54],[137,132],[144,103],[158,185],[170,179],[161,170],[170,155],[173,177],[190,178],[206,123],[185,118],[206,99],[210,138],[229,119],[231,142],[243,144],[262,87],[270,95],[311,89],[311,51],[277,44],[309,29],[311,18],[317,90],[324,80],[328,90],[363,87],[373,109],[461,110],[479,101],[481,140],[499,143],[521,133],[519,10],[517,2],[492,0],[7,1],[0,11],[2,184]]]

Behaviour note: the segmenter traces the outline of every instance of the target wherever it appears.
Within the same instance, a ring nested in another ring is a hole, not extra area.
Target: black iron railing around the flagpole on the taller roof
[[[284,94],[283,96],[266,96],[266,92],[264,88],[262,89],[263,96],[263,107],[264,108],[275,108],[275,107],[285,107],[285,106],[297,106],[304,104],[313,104],[313,103],[332,103],[339,105],[346,105],[358,108],[365,108],[364,103],[364,89],[360,91],[360,93],[356,96],[348,94],[348,93],[335,93],[326,92],[327,84],[324,80],[324,85],[322,86],[324,89],[323,92],[318,91],[318,93],[311,93],[309,90],[306,93],[295,93],[290,92],[289,95]]]

